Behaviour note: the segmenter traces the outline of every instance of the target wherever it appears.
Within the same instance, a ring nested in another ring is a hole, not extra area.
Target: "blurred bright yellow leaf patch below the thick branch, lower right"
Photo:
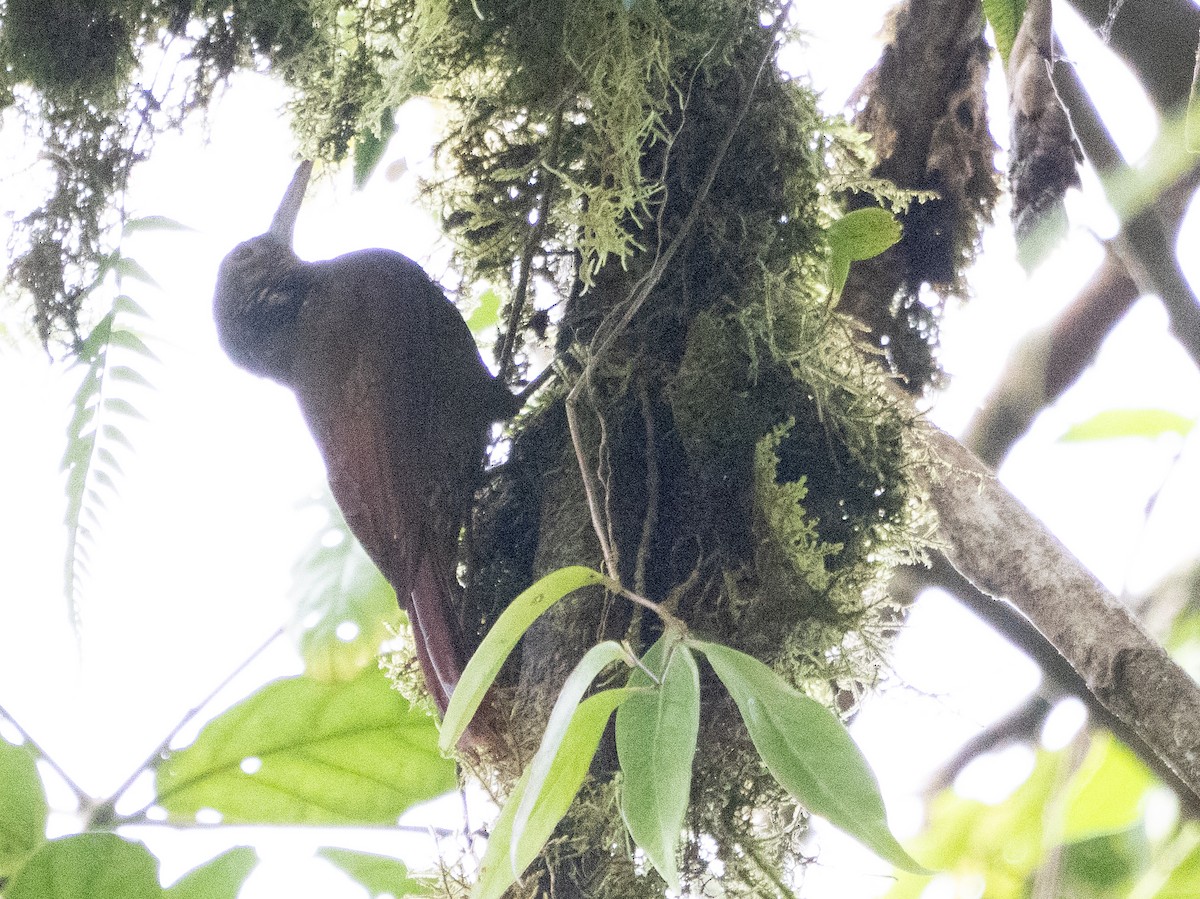
[[[1061,838],[1064,843],[1122,833],[1141,821],[1154,777],[1111,735],[1092,738],[1087,757],[1067,785]]]

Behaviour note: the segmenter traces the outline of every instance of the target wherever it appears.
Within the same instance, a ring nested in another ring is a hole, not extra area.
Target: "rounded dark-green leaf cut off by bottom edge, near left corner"
[[[162,899],[158,859],[115,833],[44,844],[5,887],[5,899]]]

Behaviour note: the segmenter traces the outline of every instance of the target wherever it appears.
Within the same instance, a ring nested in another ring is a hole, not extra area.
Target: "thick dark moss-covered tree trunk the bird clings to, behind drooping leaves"
[[[622,32],[643,12],[614,7],[607,28]],[[691,10],[661,12],[654,28],[677,26],[672,13]],[[823,119],[809,89],[778,67],[786,10],[730,4],[725,13],[696,38],[701,52],[671,59],[649,82],[571,70],[563,77],[577,92],[551,92],[541,126],[536,103],[505,94],[524,131],[491,149],[490,125],[466,118],[448,142],[464,176],[449,192],[460,198],[449,223],[468,270],[514,272],[500,364],[520,370],[504,354],[520,361],[539,317],[557,326],[558,378],[517,420],[509,461],[480,497],[470,618],[482,633],[536,576],[606,567],[692,630],[846,712],[874,682],[896,623],[886,574],[919,551],[925,523],[907,421],[832,308],[824,278],[834,191],[865,185],[868,173],[852,132]],[[654,32],[641,28],[637,40]],[[644,53],[637,40],[629,53]],[[545,59],[515,70],[534,64],[547,79],[562,76]],[[613,124],[588,118],[605,109],[592,103],[589,79],[617,95],[610,108],[632,104],[622,91],[649,97],[638,102],[653,121],[636,170],[618,173],[625,184],[605,170],[619,148],[596,149]],[[517,208],[494,215],[505,204]],[[618,216],[598,224],[596,209]],[[557,288],[548,301],[530,299],[548,293],[534,288],[539,280]],[[655,616],[599,589],[544,616],[509,670],[517,760],[536,747],[558,685],[590,646],[617,639],[644,649],[660,630]],[[706,683],[689,875],[702,883],[720,869],[730,894],[785,892],[803,815],[762,768],[736,708]],[[626,851],[613,769],[601,751],[540,874],[520,889],[661,894]],[[715,839],[715,856],[702,856],[702,835]]]

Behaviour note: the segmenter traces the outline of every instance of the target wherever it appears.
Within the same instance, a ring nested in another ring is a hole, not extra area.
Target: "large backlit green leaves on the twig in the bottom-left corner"
[[[89,827],[47,839],[49,805],[31,742],[0,739],[0,894],[6,899],[234,899],[257,864],[236,847],[162,887],[158,859],[119,835],[122,825],[395,825],[407,809],[455,786],[432,719],[414,711],[373,669],[347,681],[301,676],[268,684],[211,720],[186,747],[166,743],[110,799],[90,808]],[[403,757],[404,765],[395,760]],[[152,795],[114,811],[134,779]],[[68,784],[70,778],[67,778]],[[73,786],[73,784],[72,784]],[[398,861],[325,849],[373,893],[424,892]]]

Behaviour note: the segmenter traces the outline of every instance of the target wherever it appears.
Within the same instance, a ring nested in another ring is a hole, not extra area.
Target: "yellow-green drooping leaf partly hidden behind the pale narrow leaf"
[[[480,862],[479,880],[472,891],[472,899],[500,899],[530,862],[538,857],[538,852],[546,845],[558,822],[571,807],[583,779],[587,777],[595,755],[596,747],[600,745],[600,737],[608,724],[612,711],[632,695],[632,690],[604,690],[595,696],[590,696],[580,703],[571,718],[570,727],[563,737],[558,755],[551,766],[550,779],[546,780],[533,807],[533,814],[524,828],[524,835],[517,852],[516,863],[512,862],[512,823],[516,817],[517,807],[524,798],[529,785],[529,768],[517,781],[509,796],[500,815],[496,820],[492,834],[487,840],[487,851]]]

